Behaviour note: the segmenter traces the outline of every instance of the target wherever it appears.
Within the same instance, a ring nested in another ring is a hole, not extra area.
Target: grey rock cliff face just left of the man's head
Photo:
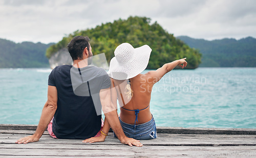
[[[63,48],[52,55],[49,59],[51,69],[59,65],[72,65],[73,60],[68,52],[68,49]]]

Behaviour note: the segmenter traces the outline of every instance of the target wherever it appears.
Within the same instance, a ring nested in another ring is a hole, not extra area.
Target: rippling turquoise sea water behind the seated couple
[[[38,124],[50,72],[0,69],[0,124]],[[173,70],[154,85],[151,111],[157,126],[256,128],[255,85],[256,68]]]

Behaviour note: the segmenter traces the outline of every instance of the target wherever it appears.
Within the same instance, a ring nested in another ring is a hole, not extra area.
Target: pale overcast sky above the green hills
[[[151,18],[175,37],[256,38],[254,0],[0,0],[0,38],[58,42],[129,16]]]

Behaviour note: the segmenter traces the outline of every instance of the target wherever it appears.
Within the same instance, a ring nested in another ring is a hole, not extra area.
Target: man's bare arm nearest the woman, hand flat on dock
[[[142,144],[138,140],[127,138],[124,135],[123,129],[118,119],[117,110],[111,101],[110,88],[101,89],[99,96],[105,118],[108,120],[111,128],[115,131],[115,134],[120,142],[123,144],[128,144],[130,146],[142,146]]]

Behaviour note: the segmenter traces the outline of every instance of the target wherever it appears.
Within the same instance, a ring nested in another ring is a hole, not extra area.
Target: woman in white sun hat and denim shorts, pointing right
[[[150,100],[153,85],[175,66],[185,67],[186,58],[165,63],[156,71],[140,74],[146,69],[152,49],[144,45],[134,49],[129,43],[120,44],[111,59],[111,97],[117,106],[120,105],[119,121],[127,137],[146,140],[157,138],[156,124],[150,111]],[[110,126],[105,119],[100,137],[94,137],[83,142],[102,142]]]

